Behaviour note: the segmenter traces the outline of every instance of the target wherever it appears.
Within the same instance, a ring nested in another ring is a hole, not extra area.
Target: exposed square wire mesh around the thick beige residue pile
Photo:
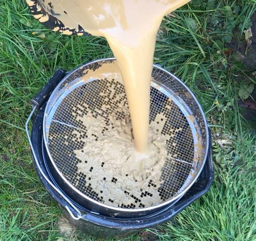
[[[153,71],[155,83],[161,79],[161,73]],[[155,75],[154,75],[155,74]],[[69,80],[70,81],[70,80]],[[116,98],[120,96],[120,98]],[[131,194],[130,203],[117,203],[116,197],[106,198],[104,190],[115,188],[115,183],[119,177],[111,177],[111,186],[109,180],[102,176],[102,190],[94,190],[90,183],[90,175],[97,173],[99,168],[84,160],[88,171],[79,172],[77,165],[81,160],[76,157],[74,150],[85,147],[88,138],[88,114],[97,120],[103,118],[106,120],[106,127],[98,133],[94,133],[94,141],[97,143],[101,135],[108,131],[108,118],[110,114],[117,115],[118,118],[129,116],[128,111],[117,112],[117,102],[128,106],[123,84],[115,79],[105,78],[104,80],[94,80],[74,88],[67,94],[61,102],[55,104],[54,114],[49,123],[49,132],[47,133],[48,148],[54,164],[60,173],[74,187],[95,201],[107,204],[112,207],[120,208],[147,208],[155,206],[162,202],[170,200],[175,194],[179,193],[184,187],[184,183],[195,169],[195,143],[189,125],[188,116],[183,113],[184,110],[173,101],[172,94],[161,91],[157,84],[151,85],[150,89],[150,123],[156,121],[157,116],[161,114],[164,118],[157,119],[157,132],[168,136],[166,139],[166,149],[168,158],[164,162],[161,173],[162,184],[156,189],[153,180],[148,180],[148,187],[141,189],[136,196]],[[103,108],[103,106],[108,106]],[[128,110],[128,108],[126,108]],[[108,177],[109,178],[109,177]],[[121,177],[120,177],[121,178]],[[105,182],[104,182],[105,181]],[[129,195],[128,190],[123,192]]]

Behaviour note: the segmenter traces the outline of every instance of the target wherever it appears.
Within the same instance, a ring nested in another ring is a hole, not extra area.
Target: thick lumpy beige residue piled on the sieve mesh
[[[82,118],[88,138],[82,149],[74,150],[81,161],[77,172],[84,175],[83,181],[104,199],[104,204],[149,207],[161,202],[158,189],[167,158],[166,140],[152,124],[148,153],[138,154],[134,149],[130,118],[124,114],[128,113],[124,101],[107,120],[100,116],[94,118],[91,113]],[[95,139],[95,133],[104,134]]]

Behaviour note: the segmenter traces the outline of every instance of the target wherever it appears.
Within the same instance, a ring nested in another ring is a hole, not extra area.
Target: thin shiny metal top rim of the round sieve
[[[77,71],[78,69],[80,69],[81,67],[85,67],[85,66],[88,66],[90,64],[93,64],[93,63],[96,63],[96,62],[101,62],[101,61],[114,61],[116,60],[116,58],[104,58],[104,59],[99,59],[99,60],[93,60],[93,61],[90,61],[86,64],[82,64],[81,66],[75,68],[74,70],[72,70],[71,72],[69,72],[62,80],[61,82],[55,87],[54,91],[52,92],[48,102],[47,102],[47,106],[45,108],[45,112],[44,112],[44,116],[43,116],[43,140],[44,140],[44,143],[46,144],[47,143],[47,140],[46,140],[46,130],[45,130],[45,126],[46,126],[46,120],[47,120],[47,115],[46,113],[48,112],[48,109],[51,107],[51,99],[53,98],[54,94],[58,91],[59,87],[62,85],[62,83],[67,80],[67,78],[73,74],[75,71]],[[156,209],[156,208],[162,208],[164,206],[167,206],[169,205],[171,202],[175,201],[176,199],[180,198],[182,195],[184,195],[189,189],[190,187],[195,183],[195,181],[198,179],[199,175],[201,174],[202,172],[202,169],[205,165],[205,162],[206,162],[206,159],[207,159],[207,156],[208,156],[208,152],[209,152],[209,128],[208,128],[208,123],[207,123],[207,120],[206,120],[206,117],[205,117],[205,114],[202,110],[202,106],[200,105],[199,101],[197,100],[197,98],[195,97],[195,95],[191,92],[191,90],[189,89],[189,87],[187,87],[179,78],[177,78],[174,74],[171,74],[170,72],[168,72],[167,70],[165,70],[164,68],[160,67],[159,65],[153,65],[153,67],[157,68],[157,69],[160,69],[162,70],[163,72],[165,72],[166,74],[169,74],[170,76],[172,76],[175,80],[177,80],[184,88],[186,88],[186,90],[189,92],[189,94],[191,94],[191,96],[195,99],[195,102],[196,104],[198,105],[199,109],[200,109],[200,112],[202,114],[202,117],[203,117],[203,122],[204,122],[204,125],[205,125],[205,129],[206,129],[206,147],[205,147],[205,153],[204,153],[204,157],[203,157],[203,160],[202,160],[202,165],[201,167],[199,168],[197,174],[195,175],[193,181],[191,181],[191,183],[179,194],[177,194],[173,199],[169,200],[169,201],[165,201],[165,202],[162,202],[158,205],[155,205],[155,206],[152,206],[152,207],[148,207],[148,208],[116,208],[116,207],[112,207],[112,206],[109,206],[109,205],[106,205],[104,203],[101,203],[101,202],[98,202],[98,201],[95,201],[94,199],[88,197],[87,195],[81,193],[81,191],[79,191],[76,187],[74,187],[68,180],[67,178],[60,172],[60,170],[58,169],[58,167],[56,166],[55,162],[53,161],[52,159],[52,156],[50,154],[50,151],[49,151],[49,148],[47,147],[47,144],[46,144],[46,150],[47,150],[47,154],[49,156],[49,159],[51,160],[55,170],[58,172],[58,174],[61,176],[61,178],[65,181],[65,183],[74,189],[74,191],[81,195],[83,198],[87,199],[88,201],[91,201],[93,202],[95,205],[100,205],[101,207],[104,207],[104,208],[108,208],[108,209],[112,209],[112,210],[115,210],[117,212],[126,212],[126,213],[129,213],[129,212],[144,212],[144,211],[151,211],[153,209]]]

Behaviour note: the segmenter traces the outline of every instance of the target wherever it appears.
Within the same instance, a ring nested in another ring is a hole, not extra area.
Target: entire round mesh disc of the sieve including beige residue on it
[[[111,75],[68,94],[51,122],[49,148],[61,173],[88,197],[113,207],[155,206],[175,195],[189,175],[191,130],[172,98],[151,87],[151,154],[136,163],[119,80]]]

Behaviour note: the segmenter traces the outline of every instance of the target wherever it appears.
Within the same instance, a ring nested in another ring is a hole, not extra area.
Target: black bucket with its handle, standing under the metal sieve
[[[154,214],[144,215],[143,217],[138,218],[109,217],[97,213],[93,209],[82,207],[77,203],[74,197],[71,198],[70,196],[67,196],[65,190],[61,190],[61,187],[57,184],[57,182],[60,180],[54,180],[54,177],[51,173],[51,168],[49,168],[47,165],[47,153],[44,147],[42,131],[43,115],[47,104],[47,96],[51,93],[57,83],[64,77],[64,75],[65,74],[63,71],[57,71],[54,74],[54,77],[49,80],[48,84],[43,88],[43,90],[32,100],[32,103],[34,104],[33,112],[36,108],[38,111],[33,120],[31,140],[29,139],[29,141],[30,145],[32,146],[32,156],[35,169],[43,186],[63,209],[63,213],[67,220],[70,221],[70,223],[73,224],[76,228],[79,228],[85,233],[94,235],[98,238],[125,237],[129,234],[133,234],[145,228],[155,227],[163,222],[170,220],[209,190],[209,187],[213,181],[210,140],[206,163],[195,184],[184,196],[182,196],[180,200],[171,203],[167,207],[155,211]],[[33,112],[30,114],[30,117],[32,116]],[[27,124],[30,120],[30,117],[26,123],[27,131]]]

